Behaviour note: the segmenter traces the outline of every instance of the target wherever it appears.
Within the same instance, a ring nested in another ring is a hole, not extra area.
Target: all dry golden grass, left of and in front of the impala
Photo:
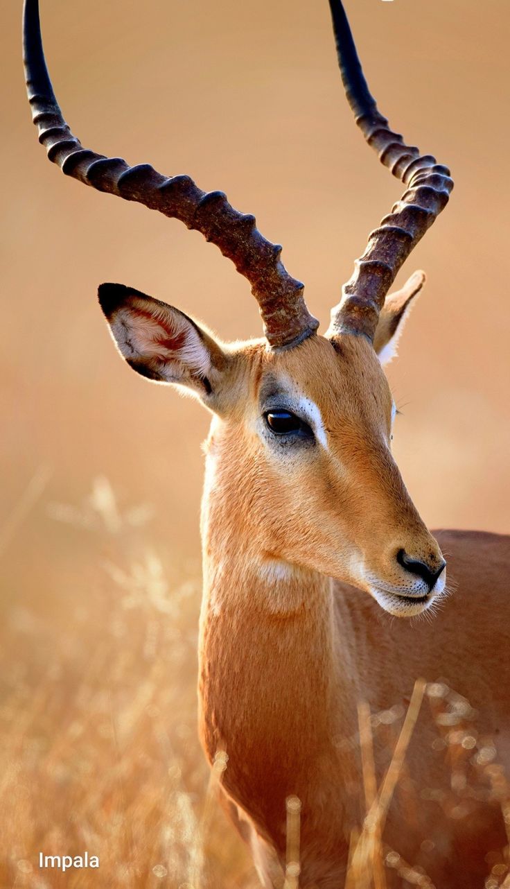
[[[149,511],[121,510],[104,479],[80,509],[45,502],[46,480],[44,470],[36,475],[0,534],[8,558],[39,499],[40,533],[56,528],[67,554],[44,602],[31,590],[4,606],[0,886],[254,889],[250,857],[215,799],[226,761],[219,757],[210,773],[196,740],[197,572],[186,576],[153,552]],[[352,837],[348,889],[386,889],[388,877],[402,889],[433,889],[423,869],[384,841],[397,783],[406,793],[405,752],[424,701],[451,771],[450,793],[438,805],[462,817],[480,799],[497,799],[510,829],[506,777],[465,699],[418,682],[407,715],[398,707],[371,714],[361,703],[355,743],[367,817]],[[376,734],[392,754],[380,787]],[[433,792],[420,789],[422,798]],[[416,805],[411,795],[408,805]],[[285,887],[298,889],[295,797],[287,824]],[[37,866],[39,852],[85,849],[100,856],[99,870]],[[507,851],[488,850],[485,889],[510,886]]]

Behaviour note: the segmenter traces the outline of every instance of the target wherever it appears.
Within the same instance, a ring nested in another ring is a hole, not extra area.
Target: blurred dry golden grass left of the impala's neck
[[[147,548],[143,511],[121,514],[104,480],[82,509],[45,513],[67,541],[76,526],[75,577],[4,614],[0,885],[250,889],[196,740],[196,573]],[[99,870],[37,867],[85,849]]]

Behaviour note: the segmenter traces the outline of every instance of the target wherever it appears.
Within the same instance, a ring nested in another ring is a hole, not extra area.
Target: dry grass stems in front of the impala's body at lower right
[[[442,752],[450,767],[448,790],[417,789],[406,770],[406,751],[425,697],[437,729],[433,748]],[[413,885],[422,889],[442,889],[442,886],[434,885],[422,866],[405,861],[397,850],[384,841],[386,814],[399,782],[402,809],[407,815],[406,823],[411,825],[416,821],[417,808],[422,799],[434,799],[442,813],[454,821],[473,815],[481,805],[493,803],[500,806],[507,845],[487,850],[484,889],[498,889],[500,886],[509,889],[510,783],[502,765],[497,762],[493,741],[479,735],[476,730],[476,712],[466,698],[448,685],[427,684],[425,680],[418,679],[394,746],[391,741],[387,742],[388,749],[392,749],[391,760],[378,789],[373,756],[374,728],[377,731],[381,722],[386,726],[394,725],[395,716],[397,714],[391,711],[372,716],[366,704],[358,707],[366,816],[362,829],[352,837],[346,889],[386,889],[388,883],[395,885],[395,876],[396,885],[402,887]],[[434,856],[434,843],[424,837],[422,848],[427,845],[429,848],[426,851]],[[386,875],[392,871],[393,878],[388,880]]]

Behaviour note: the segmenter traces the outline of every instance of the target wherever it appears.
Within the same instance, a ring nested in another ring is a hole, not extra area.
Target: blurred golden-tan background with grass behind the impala
[[[104,861],[127,836],[121,815],[139,805],[143,785],[152,802],[124,855],[142,870],[104,870],[104,885],[173,886],[177,870],[163,862],[158,876],[144,837],[168,849],[160,826],[175,823],[185,798],[198,807],[193,817],[205,817],[195,637],[208,416],[126,367],[96,292],[102,281],[131,284],[225,340],[259,336],[258,310],[249,284],[201,235],[66,180],[47,161],[25,98],[20,6],[1,13],[0,717],[12,805],[3,885],[50,885],[32,872],[34,850],[85,847],[72,812]],[[413,268],[428,278],[389,368],[402,411],[394,452],[427,525],[508,531],[510,8],[351,0],[347,12],[382,112],[449,164],[456,183],[397,281]],[[402,191],[351,119],[325,0],[44,0],[42,19],[55,91],[84,146],[187,172],[254,212],[283,244],[324,331],[353,260]],[[137,757],[148,757],[145,777]],[[104,792],[92,799],[98,770]],[[158,797],[165,781],[170,821]],[[121,813],[115,842],[105,839],[112,813]],[[175,885],[192,885],[187,867]],[[236,868],[228,885],[248,885],[249,863]]]

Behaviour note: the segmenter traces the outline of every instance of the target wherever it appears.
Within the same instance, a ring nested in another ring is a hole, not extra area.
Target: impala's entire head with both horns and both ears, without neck
[[[382,364],[424,276],[387,296],[402,262],[448,200],[446,167],[389,130],[357,59],[339,0],[331,0],[339,65],[357,123],[406,184],[342,289],[325,336],[281,248],[221,192],[84,149],[69,131],[44,63],[37,0],[25,0],[28,97],[39,139],[74,178],[186,222],[251,283],[264,339],[226,345],[179,309],[121,284],[100,305],[131,367],[177,384],[214,414],[209,460],[216,533],[243,537],[261,571],[312,569],[371,593],[386,611],[420,613],[441,594],[444,560],[391,455],[394,402]]]

